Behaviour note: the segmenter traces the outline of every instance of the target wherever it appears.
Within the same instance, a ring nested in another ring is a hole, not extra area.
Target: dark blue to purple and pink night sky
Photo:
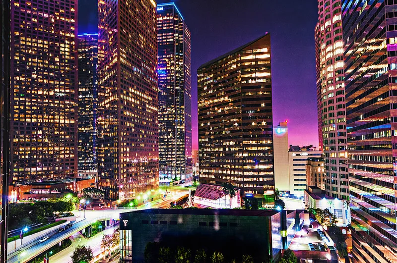
[[[169,2],[158,0],[158,3]],[[198,149],[197,69],[269,32],[273,124],[288,120],[289,144],[318,145],[316,0],[174,0],[192,33],[193,149]],[[78,1],[78,32],[97,32],[97,0]]]

